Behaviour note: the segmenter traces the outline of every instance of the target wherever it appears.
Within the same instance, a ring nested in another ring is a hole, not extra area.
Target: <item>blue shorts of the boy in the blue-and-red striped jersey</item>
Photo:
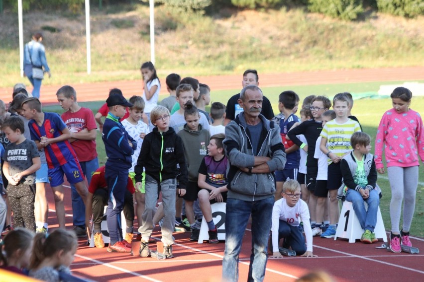
[[[50,186],[56,187],[62,185],[63,175],[66,175],[66,179],[68,179],[68,182],[71,184],[84,181],[83,170],[81,169],[80,163],[75,159],[59,167],[49,168]]]

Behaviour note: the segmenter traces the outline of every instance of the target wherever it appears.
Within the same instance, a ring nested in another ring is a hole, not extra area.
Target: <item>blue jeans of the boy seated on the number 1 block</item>
[[[370,197],[364,200],[359,192],[348,189],[346,201],[352,202],[353,210],[359,219],[362,229],[374,232],[375,224],[377,224],[378,206],[380,205],[380,197],[377,190],[371,190]],[[364,202],[367,203],[368,210],[365,210]]]

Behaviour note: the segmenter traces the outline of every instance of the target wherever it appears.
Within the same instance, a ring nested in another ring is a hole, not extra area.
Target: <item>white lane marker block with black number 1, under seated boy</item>
[[[368,208],[367,203],[364,202],[365,209]],[[361,239],[364,229],[362,229],[359,219],[353,210],[352,202],[344,201],[341,208],[340,218],[338,220],[337,230],[334,240],[337,237],[349,240],[349,243],[355,243],[356,239]],[[377,211],[377,223],[374,228],[375,237],[383,239],[387,243],[386,229],[384,229],[383,217],[381,216],[380,207]]]

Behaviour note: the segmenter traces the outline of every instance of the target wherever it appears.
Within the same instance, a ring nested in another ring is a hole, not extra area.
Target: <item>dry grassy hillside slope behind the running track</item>
[[[95,1],[96,2],[96,1]],[[52,78],[43,83],[139,79],[150,60],[145,3],[92,6],[92,74],[86,73],[84,9],[25,11],[24,43],[42,31]],[[424,17],[369,10],[354,21],[308,11],[224,7],[207,12],[155,7],[156,69],[182,75],[418,66],[424,63]],[[0,16],[0,87],[19,80],[18,18]]]

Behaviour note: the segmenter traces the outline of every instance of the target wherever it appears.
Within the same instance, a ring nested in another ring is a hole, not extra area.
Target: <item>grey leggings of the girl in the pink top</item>
[[[392,199],[390,200],[392,233],[399,233],[402,200],[404,200],[402,230],[409,232],[411,228],[418,186],[418,168],[418,166],[390,166],[387,168],[387,175],[392,189]]]

